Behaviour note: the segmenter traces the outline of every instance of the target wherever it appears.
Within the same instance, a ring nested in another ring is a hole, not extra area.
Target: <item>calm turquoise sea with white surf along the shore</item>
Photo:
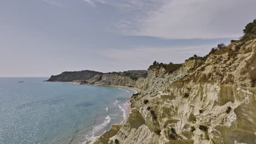
[[[46,79],[0,78],[0,143],[84,143],[123,121],[135,93]]]

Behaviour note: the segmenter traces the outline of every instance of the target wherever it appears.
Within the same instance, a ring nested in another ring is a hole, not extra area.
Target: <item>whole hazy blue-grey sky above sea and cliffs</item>
[[[241,37],[255,0],[1,0],[0,76],[148,69]]]

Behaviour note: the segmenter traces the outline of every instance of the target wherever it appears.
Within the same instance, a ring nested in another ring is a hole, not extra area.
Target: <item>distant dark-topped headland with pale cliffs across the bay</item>
[[[101,73],[91,70],[63,72],[47,81],[79,82],[81,85],[134,86],[138,79],[147,77],[147,70]]]

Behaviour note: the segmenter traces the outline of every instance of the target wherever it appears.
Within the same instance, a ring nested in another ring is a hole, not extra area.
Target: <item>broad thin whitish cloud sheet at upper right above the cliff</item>
[[[119,23],[119,27],[125,28],[120,31],[126,35],[164,39],[238,38],[246,23],[255,19],[256,13],[255,0],[159,0],[132,3],[135,3],[132,9],[140,13],[129,19],[132,25]]]

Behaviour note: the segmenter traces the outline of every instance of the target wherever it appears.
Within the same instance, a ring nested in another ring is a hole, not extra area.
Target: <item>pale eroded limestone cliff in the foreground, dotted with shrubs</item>
[[[255,54],[256,39],[171,74],[150,69],[130,83],[142,91],[125,122],[88,143],[256,143]]]

